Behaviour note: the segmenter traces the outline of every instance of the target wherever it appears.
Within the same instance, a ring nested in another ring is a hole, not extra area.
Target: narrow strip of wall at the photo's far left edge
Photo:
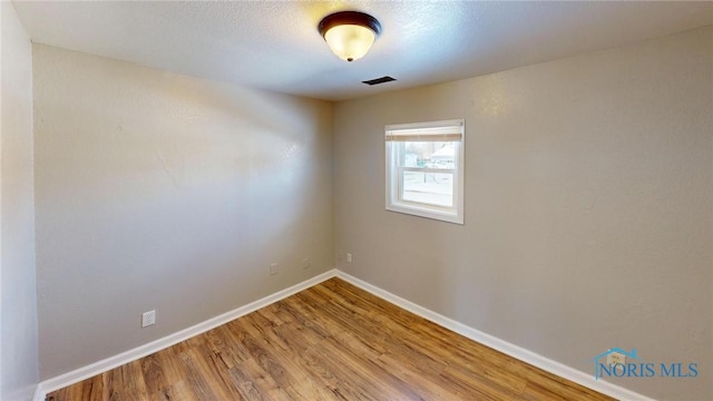
[[[0,399],[29,400],[38,381],[32,46],[12,3],[0,2]]]

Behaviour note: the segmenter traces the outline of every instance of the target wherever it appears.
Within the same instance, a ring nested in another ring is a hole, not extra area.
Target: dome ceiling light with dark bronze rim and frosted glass
[[[381,23],[363,12],[341,11],[324,17],[318,29],[336,57],[354,61],[369,51],[381,33]]]

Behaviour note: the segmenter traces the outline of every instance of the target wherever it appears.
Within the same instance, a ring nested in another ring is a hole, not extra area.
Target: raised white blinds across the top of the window
[[[461,141],[465,120],[388,125],[387,141]]]

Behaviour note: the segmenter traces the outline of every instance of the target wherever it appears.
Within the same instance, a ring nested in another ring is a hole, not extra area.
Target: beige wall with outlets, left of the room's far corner
[[[333,267],[331,104],[33,57],[42,379]]]

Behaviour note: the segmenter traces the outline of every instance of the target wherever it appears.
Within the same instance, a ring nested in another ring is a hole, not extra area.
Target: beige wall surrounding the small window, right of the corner
[[[338,267],[583,372],[713,399],[713,28],[335,107]],[[383,127],[466,118],[466,224],[384,211]]]

